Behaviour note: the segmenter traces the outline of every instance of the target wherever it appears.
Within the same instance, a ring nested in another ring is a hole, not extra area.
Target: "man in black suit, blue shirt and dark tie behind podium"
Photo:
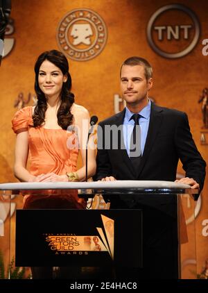
[[[153,69],[148,61],[139,57],[128,58],[121,66],[120,78],[126,107],[99,124],[96,179],[176,181],[202,190],[206,163],[193,142],[187,115],[156,106],[148,99],[148,92],[153,86]],[[106,135],[107,126],[120,127],[118,147],[113,146],[116,135]],[[136,134],[138,129],[141,133],[135,136],[137,142],[133,141],[132,144],[135,129]],[[114,138],[110,141],[110,147],[106,148],[110,137]],[[137,147],[139,144],[139,155],[135,158],[132,156],[134,144]],[[179,159],[186,177],[175,180]],[[141,208],[144,211],[145,277],[177,278],[177,264],[173,265],[172,262],[172,251],[177,243],[173,244],[171,236],[173,219],[176,221],[175,210],[173,211],[175,197],[171,202],[161,203],[161,206],[157,202],[152,203],[152,208],[148,203],[141,205],[137,202],[137,196],[132,201],[132,196],[128,194],[112,196],[110,201],[110,208]],[[155,226],[151,228],[153,223]],[[176,229],[176,223],[174,225]],[[175,238],[176,233],[175,230]],[[170,241],[166,242],[168,237]],[[168,258],[169,265],[166,263]]]

